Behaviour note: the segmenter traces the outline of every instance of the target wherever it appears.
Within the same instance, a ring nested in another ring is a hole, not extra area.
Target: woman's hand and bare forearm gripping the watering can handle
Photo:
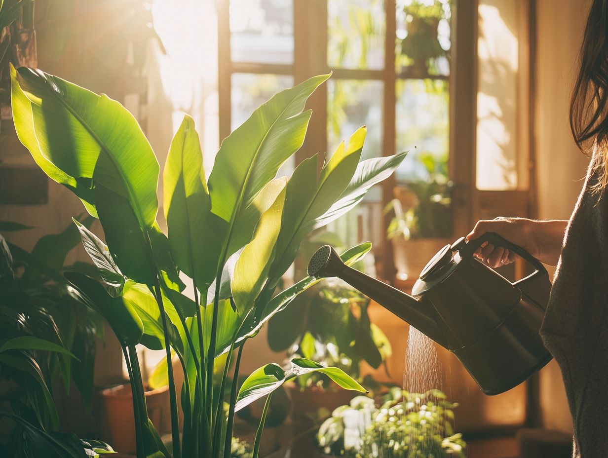
[[[474,240],[486,232],[506,238],[519,245],[541,262],[557,265],[562,249],[562,240],[567,221],[534,221],[527,218],[496,218],[496,220],[478,221],[474,229],[466,236]],[[475,257],[483,260],[488,266],[497,268],[515,261],[516,254],[502,246],[494,246],[485,242],[474,253]]]

